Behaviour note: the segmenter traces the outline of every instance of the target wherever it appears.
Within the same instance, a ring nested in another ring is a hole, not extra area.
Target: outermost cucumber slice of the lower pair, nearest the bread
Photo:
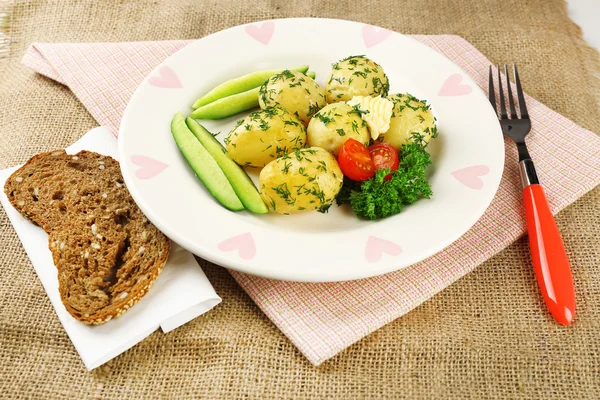
[[[215,159],[190,132],[181,113],[175,114],[171,121],[171,133],[183,157],[215,199],[230,210],[243,210],[244,205],[227,177]]]

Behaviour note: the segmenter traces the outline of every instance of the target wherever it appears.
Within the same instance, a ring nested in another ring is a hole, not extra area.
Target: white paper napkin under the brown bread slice
[[[70,154],[91,150],[117,159],[117,139],[104,127],[92,129],[67,148]],[[18,167],[0,171],[2,187]],[[100,325],[85,325],[73,318],[60,301],[58,278],[48,249],[48,235],[26,220],[10,204],[4,190],[0,202],[56,310],[58,319],[75,345],[88,370],[111,360],[142,341],[158,327],[167,333],[221,302],[194,256],[172,243],[171,254],[150,292],[116,320]]]

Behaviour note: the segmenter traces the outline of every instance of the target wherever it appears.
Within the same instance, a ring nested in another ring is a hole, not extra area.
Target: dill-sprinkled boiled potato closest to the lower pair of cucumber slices
[[[225,139],[231,158],[248,167],[263,167],[305,144],[304,125],[279,107],[251,113],[240,120]]]

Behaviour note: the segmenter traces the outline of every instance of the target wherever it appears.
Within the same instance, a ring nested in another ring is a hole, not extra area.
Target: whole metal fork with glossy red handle
[[[504,64],[504,76],[508,92],[508,107],[510,118],[506,110],[504,91],[500,66],[498,70],[498,91],[500,98],[500,126],[504,136],[512,139],[519,152],[519,175],[523,186],[523,200],[527,219],[527,232],[529,235],[529,248],[535,275],[542,291],[544,301],[550,313],[562,325],[569,325],[575,317],[575,289],[569,259],[565,246],[560,237],[560,232],[548,206],[544,189],[540,186],[533,161],[525,145],[525,137],[531,130],[531,119],[527,113],[527,105],[523,89],[519,80],[517,66],[513,64],[514,82],[517,89],[519,113],[515,109],[510,76]],[[489,99],[497,111],[496,95],[494,91],[494,74],[490,65]]]

